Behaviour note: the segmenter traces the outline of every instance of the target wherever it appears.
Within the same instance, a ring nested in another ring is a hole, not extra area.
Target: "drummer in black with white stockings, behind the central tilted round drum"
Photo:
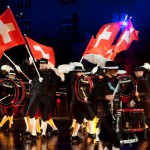
[[[96,135],[94,134],[94,122],[93,119],[95,118],[94,112],[91,111],[91,107],[86,103],[86,98],[85,101],[81,102],[79,98],[76,96],[75,93],[75,83],[77,79],[83,75],[84,68],[82,66],[75,66],[73,72],[72,72],[72,77],[71,77],[71,89],[72,89],[72,108],[73,108],[73,117],[76,120],[73,133],[71,135],[70,141],[72,144],[79,144],[83,140],[78,136],[78,131],[80,129],[81,124],[84,121],[84,118],[88,120],[88,139],[93,142],[95,139]]]

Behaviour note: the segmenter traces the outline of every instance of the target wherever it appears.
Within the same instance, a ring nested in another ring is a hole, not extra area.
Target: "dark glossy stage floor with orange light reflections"
[[[90,143],[86,135],[79,132],[79,136],[83,139],[83,143],[72,145],[70,143],[69,127],[71,120],[67,117],[53,118],[55,124],[59,128],[60,133],[55,136],[48,136],[42,139],[40,136],[34,141],[27,141],[20,134],[25,130],[23,118],[14,118],[14,130],[8,131],[8,123],[0,131],[0,150],[102,150],[101,142]],[[50,126],[47,132],[51,131]],[[134,144],[127,144],[121,148],[122,150],[149,150],[150,137],[146,140],[139,140]]]

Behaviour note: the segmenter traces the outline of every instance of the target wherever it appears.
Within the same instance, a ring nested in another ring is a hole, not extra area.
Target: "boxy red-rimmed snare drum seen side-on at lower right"
[[[143,109],[118,109],[116,114],[116,132],[141,132],[145,130]]]

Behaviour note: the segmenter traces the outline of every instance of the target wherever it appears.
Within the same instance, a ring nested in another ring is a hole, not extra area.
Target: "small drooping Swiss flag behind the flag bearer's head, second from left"
[[[52,47],[39,44],[27,36],[25,38],[35,59],[46,58],[55,66],[55,54]]]

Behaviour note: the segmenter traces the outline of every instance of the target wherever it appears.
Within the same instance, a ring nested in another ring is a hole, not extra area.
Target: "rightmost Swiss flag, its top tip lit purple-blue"
[[[120,38],[118,39],[118,41],[115,45],[114,52],[119,53],[123,50],[127,50],[133,40],[139,39],[138,33],[139,33],[139,31],[134,29],[131,19],[129,19],[126,28],[120,35]]]

